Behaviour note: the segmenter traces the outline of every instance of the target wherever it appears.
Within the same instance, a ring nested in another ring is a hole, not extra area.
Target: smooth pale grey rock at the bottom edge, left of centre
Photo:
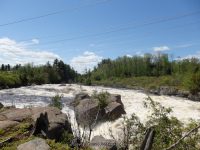
[[[19,145],[17,150],[50,150],[50,147],[44,139],[35,138],[34,140]]]

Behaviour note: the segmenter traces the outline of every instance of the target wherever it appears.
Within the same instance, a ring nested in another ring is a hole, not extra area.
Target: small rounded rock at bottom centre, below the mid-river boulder
[[[117,146],[114,140],[105,139],[103,136],[95,136],[90,142],[90,147],[94,150],[108,149],[117,150]]]

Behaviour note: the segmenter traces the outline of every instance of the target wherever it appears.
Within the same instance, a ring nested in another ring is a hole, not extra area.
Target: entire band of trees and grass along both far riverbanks
[[[161,86],[197,94],[200,91],[200,60],[173,59],[168,54],[119,57],[102,60],[93,71],[78,74],[61,60],[34,66],[2,65],[0,88],[31,84],[81,83],[133,89],[158,89]]]

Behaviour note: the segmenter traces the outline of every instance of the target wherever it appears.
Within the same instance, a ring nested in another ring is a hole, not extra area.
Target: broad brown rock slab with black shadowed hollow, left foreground
[[[0,127],[14,126],[25,119],[31,119],[34,134],[43,134],[47,138],[59,140],[63,131],[72,133],[66,114],[55,107],[10,108],[0,113]]]

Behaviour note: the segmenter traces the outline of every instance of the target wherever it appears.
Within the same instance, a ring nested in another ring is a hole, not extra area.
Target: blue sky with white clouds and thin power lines
[[[83,73],[158,52],[200,58],[199,0],[0,0],[0,64],[58,58]]]

